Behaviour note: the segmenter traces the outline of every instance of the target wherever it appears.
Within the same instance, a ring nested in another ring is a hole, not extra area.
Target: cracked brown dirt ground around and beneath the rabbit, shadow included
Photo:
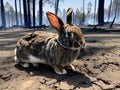
[[[33,30],[0,31],[0,90],[120,90],[120,32],[84,34],[86,48],[67,75],[14,63],[15,44],[27,32]]]

